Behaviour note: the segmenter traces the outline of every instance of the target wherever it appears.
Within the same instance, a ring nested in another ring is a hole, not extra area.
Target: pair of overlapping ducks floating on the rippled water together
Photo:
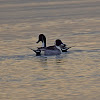
[[[40,55],[60,55],[62,52],[67,52],[67,50],[71,47],[66,47],[65,44],[62,43],[60,39],[55,41],[55,45],[53,46],[46,46],[46,37],[44,34],[39,35],[39,39],[36,43],[42,42],[42,47],[37,48],[37,50],[33,50],[36,53],[36,56]]]

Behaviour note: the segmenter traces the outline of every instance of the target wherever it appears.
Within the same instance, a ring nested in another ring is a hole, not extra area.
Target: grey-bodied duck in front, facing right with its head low
[[[60,39],[55,41],[55,45],[48,47],[40,47],[37,50],[33,50],[36,53],[36,56],[50,56],[50,55],[60,55],[62,53],[61,47],[62,42]]]

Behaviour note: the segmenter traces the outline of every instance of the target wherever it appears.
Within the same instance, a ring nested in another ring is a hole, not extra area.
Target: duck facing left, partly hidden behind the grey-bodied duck
[[[66,44],[64,44],[61,40],[59,40],[61,43],[61,50],[62,52],[67,52],[68,49],[70,49],[71,47],[67,47]],[[44,34],[40,34],[38,36],[38,41],[36,43],[42,42],[42,47],[40,48],[46,48],[46,37]]]

